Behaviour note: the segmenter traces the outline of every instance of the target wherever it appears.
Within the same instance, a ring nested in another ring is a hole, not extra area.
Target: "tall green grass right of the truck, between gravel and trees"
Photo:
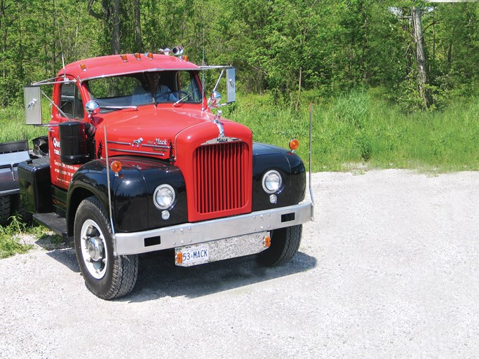
[[[238,96],[224,116],[253,130],[255,141],[287,147],[301,143],[307,161],[309,107],[295,111],[267,96]],[[405,114],[380,93],[355,90],[313,105],[313,171],[367,168],[479,170],[479,102],[443,111]]]

